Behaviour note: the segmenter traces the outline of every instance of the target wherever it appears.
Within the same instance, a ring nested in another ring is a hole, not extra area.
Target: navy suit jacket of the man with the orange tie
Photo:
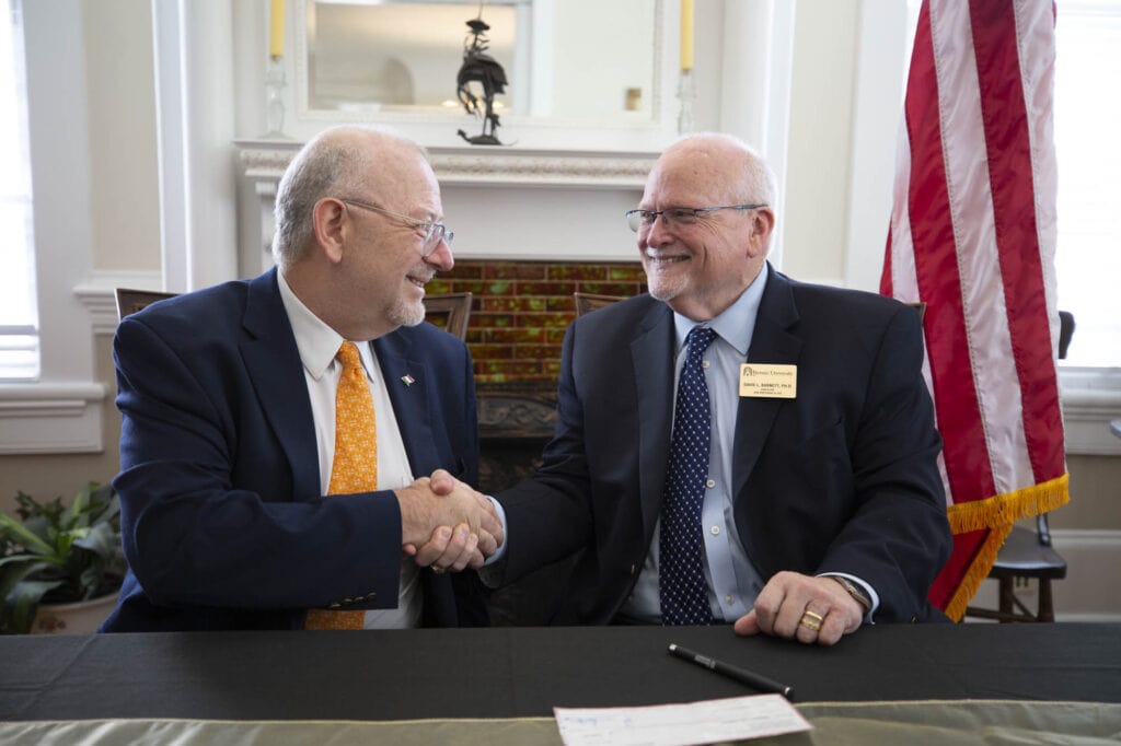
[[[466,346],[432,325],[372,343],[416,476],[479,470]],[[323,497],[312,405],[276,270],[154,304],[113,342],[130,571],[103,631],[291,628],[397,606],[391,491]],[[406,384],[401,376],[414,382]],[[473,574],[421,571],[424,624],[484,624]]]

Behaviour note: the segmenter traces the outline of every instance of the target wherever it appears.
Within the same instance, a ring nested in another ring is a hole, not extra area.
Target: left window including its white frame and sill
[[[0,0],[3,455],[102,450],[106,386],[94,379],[93,317],[84,305],[91,297],[86,4]]]

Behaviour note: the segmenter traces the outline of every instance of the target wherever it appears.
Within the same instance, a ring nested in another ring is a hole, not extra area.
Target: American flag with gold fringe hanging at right
[[[960,619],[1012,522],[1068,500],[1055,358],[1055,8],[924,0],[880,291],[925,304]]]

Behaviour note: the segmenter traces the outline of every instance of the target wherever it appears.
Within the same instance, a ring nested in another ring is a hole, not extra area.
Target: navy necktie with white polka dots
[[[712,414],[701,362],[704,351],[715,337],[716,333],[707,327],[693,327],[677,383],[661,531],[658,534],[658,593],[661,623],[667,625],[713,622],[702,567],[704,539],[701,533],[701,504],[708,475]]]

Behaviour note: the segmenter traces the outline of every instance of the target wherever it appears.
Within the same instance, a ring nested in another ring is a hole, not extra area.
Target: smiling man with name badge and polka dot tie
[[[498,496],[518,579],[578,552],[555,622],[734,623],[831,645],[945,619],[949,553],[916,311],[767,262],[773,177],[685,138],[627,222],[649,295],[577,318],[543,465]]]

